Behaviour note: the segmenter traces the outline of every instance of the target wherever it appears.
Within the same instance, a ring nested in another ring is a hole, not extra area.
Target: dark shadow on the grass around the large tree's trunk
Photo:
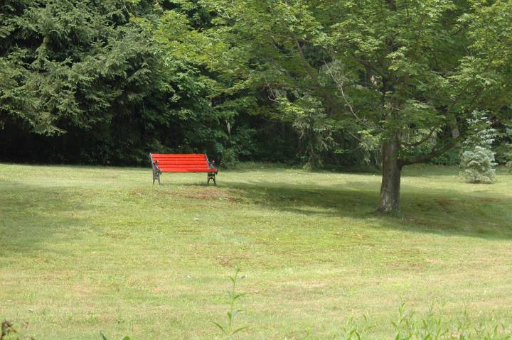
[[[472,236],[489,239],[512,238],[512,200],[501,195],[466,194],[449,190],[402,190],[402,213],[378,214],[378,188],[366,183],[351,186],[304,187],[286,182],[228,182],[252,204],[270,209],[325,217],[368,219],[369,226],[400,229],[444,236]],[[490,209],[492,206],[492,209]],[[338,222],[335,222],[338,223]]]

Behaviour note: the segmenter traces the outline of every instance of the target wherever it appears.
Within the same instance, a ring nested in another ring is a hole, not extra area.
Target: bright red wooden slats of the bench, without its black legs
[[[215,172],[204,153],[150,153],[151,163],[158,161],[161,172]]]

